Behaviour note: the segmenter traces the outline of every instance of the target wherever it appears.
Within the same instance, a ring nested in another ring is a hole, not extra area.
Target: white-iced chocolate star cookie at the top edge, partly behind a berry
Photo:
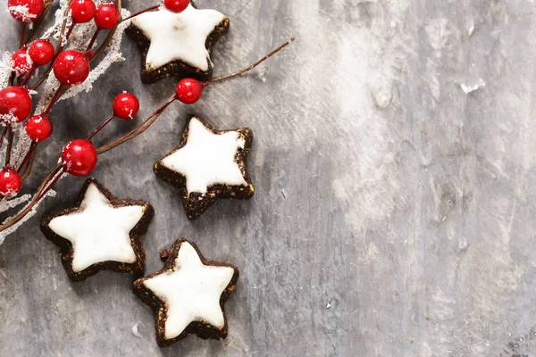
[[[180,13],[163,7],[142,13],[131,20],[127,34],[142,54],[142,81],[153,83],[170,76],[211,79],[210,55],[227,29],[227,16],[215,10],[197,10],[191,2]]]

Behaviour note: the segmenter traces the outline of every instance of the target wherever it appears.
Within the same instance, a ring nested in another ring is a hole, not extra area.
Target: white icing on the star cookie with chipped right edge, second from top
[[[244,145],[246,141],[239,132],[214,134],[199,119],[192,118],[186,145],[164,157],[162,164],[186,177],[188,195],[192,192],[204,195],[207,187],[215,184],[247,186],[235,162],[237,151]]]

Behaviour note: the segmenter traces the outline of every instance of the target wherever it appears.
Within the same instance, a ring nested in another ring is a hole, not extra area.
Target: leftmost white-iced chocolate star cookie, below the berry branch
[[[154,214],[151,204],[121,200],[88,179],[76,206],[43,219],[41,231],[60,247],[69,278],[80,281],[99,270],[143,271],[141,236]]]

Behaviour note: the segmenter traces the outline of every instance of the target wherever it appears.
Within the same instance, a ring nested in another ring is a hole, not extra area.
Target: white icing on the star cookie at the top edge
[[[147,71],[177,60],[208,71],[210,56],[205,47],[206,37],[224,19],[221,12],[197,10],[191,4],[184,12],[173,13],[161,8],[132,19],[132,24],[151,41],[146,58]]]

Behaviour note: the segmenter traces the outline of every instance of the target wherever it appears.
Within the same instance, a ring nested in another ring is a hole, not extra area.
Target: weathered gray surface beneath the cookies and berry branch
[[[230,16],[218,74],[297,42],[199,104],[172,105],[143,137],[102,155],[93,176],[155,206],[147,272],[177,237],[239,266],[229,337],[159,349],[133,278],[102,272],[71,284],[36,217],[0,246],[0,355],[534,355],[536,3],[197,3]],[[0,24],[0,43],[13,50],[5,11]],[[139,119],[172,93],[172,80],[143,86],[135,46],[123,49],[127,62],[52,112],[54,140],[33,184],[121,90],[141,97]],[[254,130],[256,193],[188,221],[178,191],[151,166],[194,112],[221,129]],[[133,125],[114,122],[96,141]],[[70,206],[82,182],[64,179],[38,216]]]

